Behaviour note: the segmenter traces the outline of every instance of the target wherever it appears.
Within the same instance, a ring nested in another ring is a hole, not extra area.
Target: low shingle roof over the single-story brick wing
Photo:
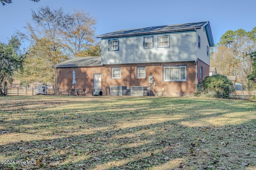
[[[59,64],[55,64],[53,68],[63,68],[63,67],[88,67],[88,66],[103,66],[101,64],[101,57],[76,57],[64,61]]]

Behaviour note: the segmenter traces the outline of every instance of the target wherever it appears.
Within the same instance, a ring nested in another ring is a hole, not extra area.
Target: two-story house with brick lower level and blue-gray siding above
[[[156,95],[192,96],[209,75],[209,21],[124,29],[98,35],[101,57],[82,57],[56,64],[58,88],[104,89],[150,86]],[[152,77],[153,76],[153,77]],[[154,80],[149,84],[150,80]]]

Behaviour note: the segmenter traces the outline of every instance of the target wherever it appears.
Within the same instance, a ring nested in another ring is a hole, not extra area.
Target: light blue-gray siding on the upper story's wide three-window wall
[[[158,47],[158,36],[170,36],[170,47]],[[144,48],[144,37],[153,36],[153,48]],[[108,41],[102,38],[102,64],[162,63],[195,61],[196,32],[164,33],[115,37],[119,40],[119,50],[109,51]]]

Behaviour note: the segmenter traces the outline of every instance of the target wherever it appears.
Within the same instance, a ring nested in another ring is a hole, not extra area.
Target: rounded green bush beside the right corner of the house
[[[214,98],[230,98],[230,88],[233,83],[226,77],[220,74],[207,76],[202,81],[204,95]]]

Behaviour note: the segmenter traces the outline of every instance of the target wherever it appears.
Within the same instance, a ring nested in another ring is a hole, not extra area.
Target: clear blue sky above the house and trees
[[[0,5],[0,42],[31,22],[31,9],[62,7],[65,12],[84,10],[96,18],[96,35],[176,23],[210,21],[214,43],[229,29],[251,31],[256,26],[255,0],[12,0]]]

